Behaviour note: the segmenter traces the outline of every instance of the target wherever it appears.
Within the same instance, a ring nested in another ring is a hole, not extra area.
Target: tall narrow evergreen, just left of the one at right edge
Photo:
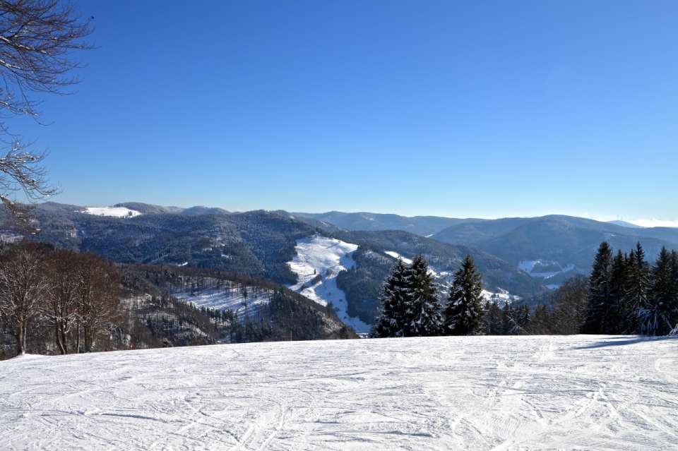
[[[645,251],[641,243],[636,244],[636,249],[629,253],[626,263],[628,268],[628,287],[622,305],[622,332],[633,334],[640,331],[638,323],[638,310],[645,306],[648,299],[649,267],[645,260]]]

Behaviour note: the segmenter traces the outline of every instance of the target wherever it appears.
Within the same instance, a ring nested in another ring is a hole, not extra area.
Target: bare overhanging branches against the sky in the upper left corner
[[[9,133],[4,120],[28,115],[38,119],[41,97],[68,95],[79,82],[70,76],[82,66],[77,50],[90,49],[85,40],[93,31],[91,18],[81,20],[76,7],[59,0],[0,0],[0,134],[6,155],[0,157],[0,200],[8,220],[23,229],[30,226],[30,208],[16,201],[23,192],[29,203],[56,194],[42,161],[45,152],[30,150]],[[1,154],[0,154],[1,155]]]

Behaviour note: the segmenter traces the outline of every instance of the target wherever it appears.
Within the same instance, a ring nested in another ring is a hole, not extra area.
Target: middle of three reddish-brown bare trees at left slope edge
[[[43,315],[54,327],[54,339],[61,354],[69,353],[69,332],[76,323],[77,295],[80,285],[78,260],[80,254],[68,249],[47,256],[49,290]]]

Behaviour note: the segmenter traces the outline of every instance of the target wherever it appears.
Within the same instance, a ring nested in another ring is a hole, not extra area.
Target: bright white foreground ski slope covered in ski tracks
[[[436,337],[0,362],[3,450],[669,450],[678,340]]]

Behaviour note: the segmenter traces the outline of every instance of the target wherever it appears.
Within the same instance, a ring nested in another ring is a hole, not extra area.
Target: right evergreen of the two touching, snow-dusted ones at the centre
[[[440,335],[443,321],[439,310],[438,284],[429,272],[429,262],[421,254],[415,255],[406,270],[409,296],[405,303],[403,332],[405,337],[433,337]]]

